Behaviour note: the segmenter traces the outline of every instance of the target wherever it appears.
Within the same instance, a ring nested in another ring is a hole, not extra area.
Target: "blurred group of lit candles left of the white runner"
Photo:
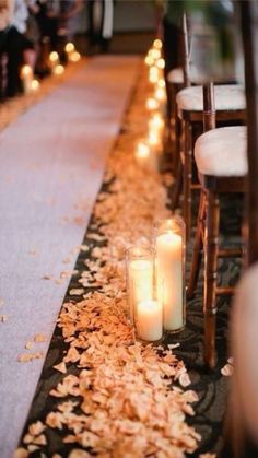
[[[68,62],[79,62],[81,55],[75,50],[73,43],[67,43],[64,47]],[[51,51],[48,57],[48,67],[51,73],[59,77],[64,72],[64,67],[60,63],[60,57],[57,51]],[[25,64],[21,69],[21,80],[24,93],[35,92],[39,89],[40,83],[34,77],[33,68]]]

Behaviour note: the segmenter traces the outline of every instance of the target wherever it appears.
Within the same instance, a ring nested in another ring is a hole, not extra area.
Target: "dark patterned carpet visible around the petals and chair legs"
[[[120,138],[125,134],[127,126],[124,126]],[[114,177],[113,179],[116,179]],[[108,184],[103,185],[102,191],[108,192]],[[168,189],[169,191],[169,189]],[[169,192],[168,192],[169,195]],[[197,201],[195,203],[195,210],[197,210]],[[242,214],[242,197],[235,196],[234,202],[228,202],[226,199],[222,200],[222,243],[232,244],[236,239],[239,240],[239,221]],[[71,279],[67,295],[63,302],[73,301],[79,302],[83,297],[70,296],[69,291],[71,289],[81,287],[78,283],[80,278],[80,271],[85,270],[84,261],[91,258],[91,250],[96,246],[105,245],[104,242],[96,243],[92,238],[89,238],[89,233],[97,233],[97,223],[92,220],[90,222],[87,232],[84,236],[83,244],[90,247],[87,253],[81,251],[78,257],[75,270],[79,272]],[[188,247],[187,254],[187,274],[189,274],[192,239]],[[239,261],[236,260],[223,260],[220,265],[220,282],[225,284],[235,284],[239,274]],[[228,310],[230,301],[228,298],[220,298],[219,312],[218,312],[218,325],[216,325],[216,351],[218,351],[218,365],[214,372],[209,373],[203,366],[202,361],[202,336],[203,336],[203,322],[202,322],[202,272],[200,272],[200,281],[194,300],[187,303],[187,324],[184,331],[179,334],[175,334],[169,338],[167,343],[177,343],[180,345],[175,349],[175,353],[179,359],[183,359],[186,367],[188,368],[191,386],[199,395],[199,401],[195,404],[196,415],[192,418],[188,416],[188,422],[194,425],[197,431],[201,434],[202,439],[198,451],[191,457],[198,457],[202,453],[219,453],[222,445],[222,431],[223,431],[223,418],[226,410],[226,398],[227,398],[227,386],[228,378],[222,376],[221,368],[226,364],[227,361],[227,325],[228,325]],[[55,371],[52,366],[58,364],[67,351],[68,347],[63,342],[61,331],[58,327],[52,336],[52,340],[49,347],[49,351],[45,361],[44,369],[37,386],[37,390],[31,407],[31,411],[27,418],[26,425],[22,437],[27,432],[28,425],[37,420],[45,422],[46,415],[55,410],[58,403],[58,399],[49,396],[49,391],[57,386],[58,381],[61,380],[62,375]],[[78,369],[75,364],[70,364],[68,374],[77,374]],[[67,375],[68,375],[67,374]],[[47,436],[47,447],[42,447],[40,451],[30,453],[30,457],[52,457],[54,454],[59,454],[61,457],[68,457],[71,449],[74,448],[73,444],[63,444],[62,437],[67,435],[67,431],[47,428],[45,431]],[[21,446],[23,445],[21,437]]]

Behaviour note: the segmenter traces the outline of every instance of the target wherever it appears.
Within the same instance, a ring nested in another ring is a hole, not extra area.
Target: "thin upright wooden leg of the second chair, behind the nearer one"
[[[191,127],[189,122],[184,122],[184,167],[183,167],[183,189],[184,207],[183,215],[186,223],[186,238],[189,240],[191,231]]]

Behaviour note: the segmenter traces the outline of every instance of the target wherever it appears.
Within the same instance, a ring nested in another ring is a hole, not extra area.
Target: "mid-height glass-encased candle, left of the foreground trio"
[[[129,315],[131,322],[134,322],[137,304],[152,298],[154,250],[148,245],[132,246],[126,253],[126,261]]]

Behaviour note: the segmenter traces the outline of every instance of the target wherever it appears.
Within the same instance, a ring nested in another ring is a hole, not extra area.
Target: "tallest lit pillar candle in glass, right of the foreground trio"
[[[155,246],[164,329],[177,331],[185,325],[185,224],[179,216],[157,224]]]

